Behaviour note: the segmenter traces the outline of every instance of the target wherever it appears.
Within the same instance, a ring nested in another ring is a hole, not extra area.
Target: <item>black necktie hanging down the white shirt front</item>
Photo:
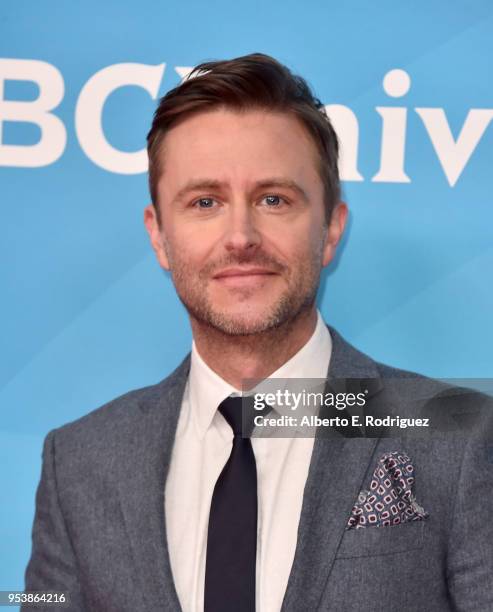
[[[234,438],[212,494],[205,612],[255,612],[257,468],[251,440],[242,438],[242,401],[246,403],[245,398],[228,397],[218,408]],[[249,412],[253,415],[251,408]]]

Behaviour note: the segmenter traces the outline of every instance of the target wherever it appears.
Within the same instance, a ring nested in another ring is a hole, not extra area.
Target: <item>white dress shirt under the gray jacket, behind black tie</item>
[[[317,313],[308,342],[269,378],[326,378],[332,341]],[[175,444],[165,488],[171,569],[184,612],[204,609],[207,530],[212,493],[232,448],[233,433],[217,411],[238,394],[204,362],[192,344]],[[257,612],[278,612],[297,542],[313,438],[255,438],[257,463]]]

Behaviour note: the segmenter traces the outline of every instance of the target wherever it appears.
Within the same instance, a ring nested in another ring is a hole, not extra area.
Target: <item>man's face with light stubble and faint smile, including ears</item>
[[[216,109],[164,139],[161,225],[145,223],[192,318],[232,335],[278,327],[313,308],[344,229],[329,227],[318,152],[293,116]]]

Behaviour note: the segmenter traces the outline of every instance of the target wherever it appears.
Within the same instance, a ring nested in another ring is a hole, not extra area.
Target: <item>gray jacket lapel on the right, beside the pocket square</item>
[[[379,376],[375,363],[332,328],[328,380]],[[379,390],[376,385],[374,392]],[[377,439],[315,439],[303,495],[298,543],[282,612],[317,610],[347,519],[361,489]]]

